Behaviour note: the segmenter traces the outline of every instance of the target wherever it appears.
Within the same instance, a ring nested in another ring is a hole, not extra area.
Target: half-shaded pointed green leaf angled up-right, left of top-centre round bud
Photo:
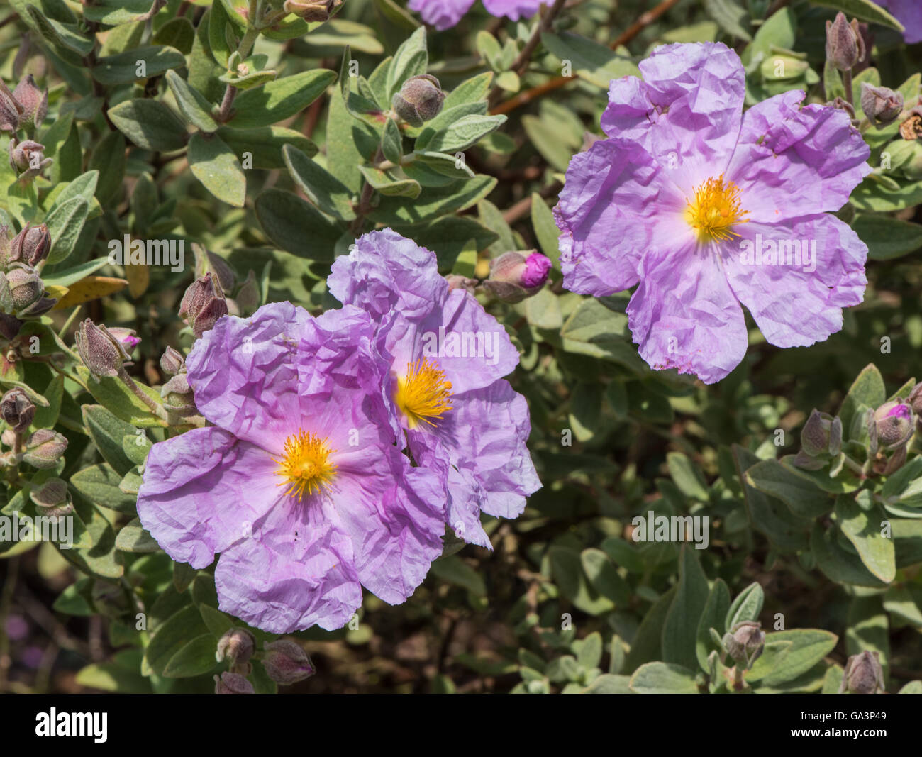
[[[270,81],[259,89],[248,89],[234,101],[235,113],[228,125],[255,129],[278,124],[310,105],[336,78],[335,71],[318,68]]]

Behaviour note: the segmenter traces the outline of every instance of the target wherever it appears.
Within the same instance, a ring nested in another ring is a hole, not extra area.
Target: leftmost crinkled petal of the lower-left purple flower
[[[173,560],[205,568],[278,503],[276,468],[229,432],[193,429],[151,447],[137,515]]]

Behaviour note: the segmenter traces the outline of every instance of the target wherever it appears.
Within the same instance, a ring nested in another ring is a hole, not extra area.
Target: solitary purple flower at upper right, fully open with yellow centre
[[[848,115],[801,108],[801,91],[743,113],[743,67],[719,43],[660,47],[640,69],[611,82],[609,138],[567,170],[554,208],[564,286],[637,285],[641,356],[706,384],[746,353],[740,304],[778,347],[839,331],[867,283],[867,246],[829,215],[870,172]]]

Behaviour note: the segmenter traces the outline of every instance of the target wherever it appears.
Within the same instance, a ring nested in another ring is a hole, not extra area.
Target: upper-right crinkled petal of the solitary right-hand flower
[[[725,178],[753,221],[775,223],[838,210],[868,175],[870,148],[845,111],[800,108],[792,90],[746,112]]]

